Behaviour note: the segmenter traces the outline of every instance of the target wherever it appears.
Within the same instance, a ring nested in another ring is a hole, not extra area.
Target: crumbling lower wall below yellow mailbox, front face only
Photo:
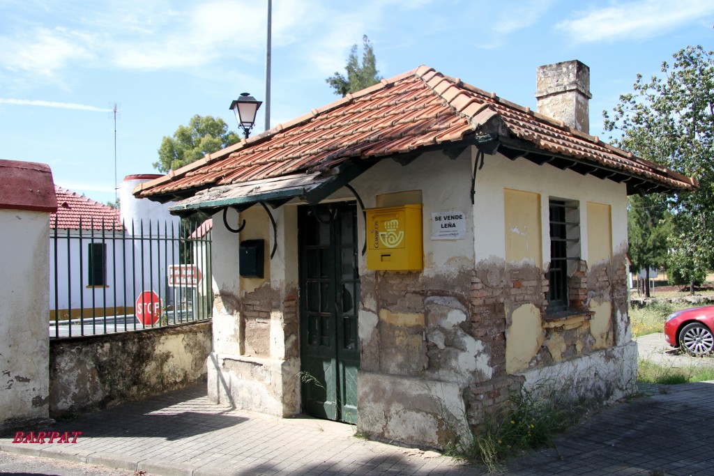
[[[468,431],[464,392],[493,374],[491,334],[471,319],[471,276],[361,276],[361,431],[429,447]]]

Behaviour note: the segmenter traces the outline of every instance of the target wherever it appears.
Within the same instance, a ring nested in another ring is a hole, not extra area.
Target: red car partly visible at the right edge
[[[714,305],[672,313],[665,321],[665,339],[672,347],[694,355],[714,350]]]

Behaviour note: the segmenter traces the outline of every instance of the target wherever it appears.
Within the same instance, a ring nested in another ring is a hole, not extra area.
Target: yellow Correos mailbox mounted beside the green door
[[[423,243],[421,203],[368,208],[367,269],[421,270]]]

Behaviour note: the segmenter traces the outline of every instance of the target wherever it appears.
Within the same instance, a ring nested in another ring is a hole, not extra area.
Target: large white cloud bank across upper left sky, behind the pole
[[[331,74],[362,34],[386,29],[433,1],[363,0],[351,7],[330,0],[273,1],[273,49],[299,42],[300,61],[311,65],[310,74]],[[542,1],[550,0],[535,0]],[[216,64],[223,71],[244,69],[264,61],[266,10],[264,2],[251,0],[39,2],[0,36],[0,44],[9,46],[0,49],[0,68],[45,78],[61,78],[74,67],[198,74]],[[49,27],[56,24],[63,27]]]

